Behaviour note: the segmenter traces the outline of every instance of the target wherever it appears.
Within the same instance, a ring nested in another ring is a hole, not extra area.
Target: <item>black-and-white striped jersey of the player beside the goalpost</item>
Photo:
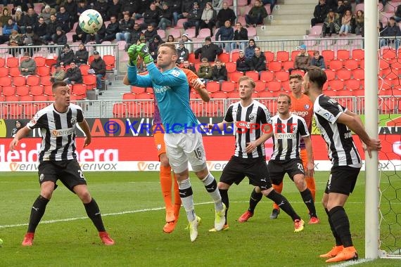
[[[333,98],[321,94],[314,101],[313,109],[317,126],[329,148],[329,159],[333,167],[361,167],[361,157],[352,139],[351,130],[345,124],[337,122],[347,108]]]

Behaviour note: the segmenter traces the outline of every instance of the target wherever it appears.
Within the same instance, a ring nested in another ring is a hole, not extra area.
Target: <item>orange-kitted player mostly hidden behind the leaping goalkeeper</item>
[[[191,89],[199,93],[203,101],[208,102],[210,100],[209,93],[206,91],[206,86],[200,81],[198,75],[188,69],[181,69],[186,74],[188,79],[189,93]],[[179,197],[177,178],[174,175],[174,181],[171,177],[171,167],[167,158],[165,141],[164,141],[164,128],[160,119],[160,113],[157,105],[157,101],[154,101],[155,112],[153,113],[153,139],[155,141],[156,148],[158,149],[158,157],[160,161],[160,185],[162,188],[163,199],[165,201],[166,210],[166,223],[163,227],[163,232],[172,233],[174,230],[178,217],[179,209],[181,208],[181,198]],[[172,188],[174,192],[174,204],[172,200]]]

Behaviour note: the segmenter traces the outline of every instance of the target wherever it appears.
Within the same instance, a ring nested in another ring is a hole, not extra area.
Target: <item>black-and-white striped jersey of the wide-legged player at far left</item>
[[[83,121],[79,105],[70,104],[65,113],[58,112],[53,104],[39,110],[27,124],[28,128],[39,128],[42,133],[39,162],[75,159],[75,129],[77,122]]]

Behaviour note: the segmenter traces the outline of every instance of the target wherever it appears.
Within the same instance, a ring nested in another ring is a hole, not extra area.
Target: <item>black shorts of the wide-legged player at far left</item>
[[[74,192],[72,189],[75,185],[87,184],[77,159],[40,162],[38,176],[41,184],[46,181],[52,181],[56,184],[57,180],[60,179],[61,183],[72,192]]]

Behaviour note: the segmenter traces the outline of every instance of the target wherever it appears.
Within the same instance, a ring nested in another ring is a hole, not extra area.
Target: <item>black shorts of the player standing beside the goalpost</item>
[[[360,168],[349,166],[332,167],[329,181],[327,181],[324,193],[340,193],[350,195],[355,188]]]

